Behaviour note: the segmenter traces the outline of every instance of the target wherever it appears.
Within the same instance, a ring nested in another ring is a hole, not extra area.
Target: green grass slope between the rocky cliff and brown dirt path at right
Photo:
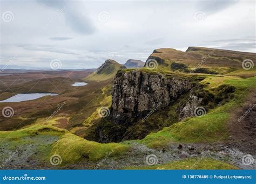
[[[227,79],[221,84],[229,84],[236,88],[233,100],[208,111],[205,116],[187,118],[157,133],[150,133],[144,139],[138,140],[139,143],[156,148],[164,147],[171,142],[200,143],[225,140],[228,137],[226,122],[233,109],[238,108],[248,95],[248,88],[256,88],[256,77]]]

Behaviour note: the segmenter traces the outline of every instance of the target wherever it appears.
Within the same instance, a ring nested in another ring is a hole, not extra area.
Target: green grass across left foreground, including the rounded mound
[[[48,139],[53,137],[57,140],[48,144]],[[116,157],[129,149],[129,145],[126,144],[100,144],[85,140],[64,129],[41,124],[16,131],[1,131],[0,138],[1,144],[8,144],[5,148],[10,151],[15,151],[17,147],[35,146],[30,158],[36,159],[43,165],[49,165],[49,159],[53,154],[59,154],[64,164],[72,164],[80,161],[97,161],[110,152],[112,152],[110,157]],[[0,158],[2,157],[8,155],[1,155]]]

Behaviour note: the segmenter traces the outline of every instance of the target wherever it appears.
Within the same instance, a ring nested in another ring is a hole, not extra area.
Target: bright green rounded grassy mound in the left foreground
[[[96,161],[103,159],[107,153],[110,157],[124,154],[129,146],[120,143],[100,144],[85,140],[72,133],[66,133],[55,143],[52,154],[59,154],[64,164],[81,161]]]

